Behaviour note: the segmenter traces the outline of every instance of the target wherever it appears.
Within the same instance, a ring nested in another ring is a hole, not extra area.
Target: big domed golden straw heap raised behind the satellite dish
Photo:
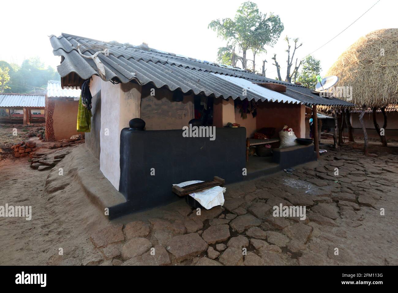
[[[379,29],[358,39],[330,67],[337,86],[352,87],[354,104],[398,104],[398,28]],[[340,99],[344,99],[341,98]]]

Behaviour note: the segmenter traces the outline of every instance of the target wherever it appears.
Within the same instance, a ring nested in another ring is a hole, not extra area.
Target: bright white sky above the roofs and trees
[[[62,32],[100,39],[129,42],[143,41],[155,49],[178,53],[197,59],[215,61],[217,48],[225,44],[207,29],[217,18],[233,18],[244,0],[201,1],[2,1],[2,32],[0,60],[20,64],[23,59],[39,56],[46,65],[56,67],[48,35]],[[267,77],[275,78],[271,57],[277,53],[281,67],[286,66],[286,42],[283,38],[299,37],[303,43],[296,51],[300,59],[311,53],[356,18],[377,0],[253,0],[263,13],[278,14],[285,26],[275,47],[267,55],[256,56],[256,69],[267,59]],[[355,24],[334,41],[316,51],[322,73],[359,37],[382,28],[397,26],[397,0],[381,0]],[[248,54],[252,59],[252,54]],[[251,65],[248,63],[248,67]],[[282,78],[286,75],[281,69]]]

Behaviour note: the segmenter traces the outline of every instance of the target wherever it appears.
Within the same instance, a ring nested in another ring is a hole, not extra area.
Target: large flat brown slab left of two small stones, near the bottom
[[[167,242],[168,252],[175,256],[178,262],[193,258],[205,252],[208,247],[205,240],[197,233],[174,236]]]

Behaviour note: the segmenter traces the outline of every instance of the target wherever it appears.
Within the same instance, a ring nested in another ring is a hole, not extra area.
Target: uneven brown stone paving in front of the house
[[[91,239],[103,264],[397,265],[397,163],[345,146],[293,175],[227,185],[223,207],[199,215],[183,203]],[[274,217],[281,203],[305,205],[306,219]]]

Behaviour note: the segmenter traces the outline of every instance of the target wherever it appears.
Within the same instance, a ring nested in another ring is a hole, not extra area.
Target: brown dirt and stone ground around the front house
[[[180,201],[109,223],[73,178],[45,187],[54,170],[4,155],[17,138],[1,131],[0,206],[29,205],[33,214],[0,217],[1,265],[398,264],[396,146],[371,144],[373,158],[362,155],[360,144],[338,151],[324,145],[328,152],[317,163],[293,175],[226,185],[224,207],[199,217]],[[305,204],[307,219],[275,222],[271,207],[279,203]],[[161,250],[155,260],[152,246]]]

